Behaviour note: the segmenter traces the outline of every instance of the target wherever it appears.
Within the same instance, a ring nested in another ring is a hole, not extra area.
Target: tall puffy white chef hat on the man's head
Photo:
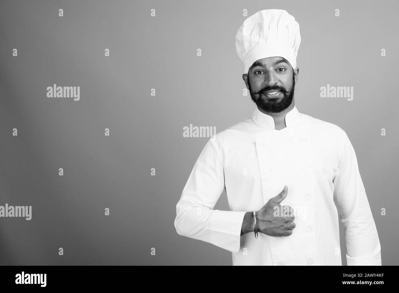
[[[299,24],[285,10],[261,10],[247,18],[235,36],[237,55],[244,73],[252,64],[267,57],[283,57],[296,68],[300,44]]]

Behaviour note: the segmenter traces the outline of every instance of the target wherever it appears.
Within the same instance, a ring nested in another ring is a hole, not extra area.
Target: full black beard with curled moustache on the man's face
[[[295,88],[294,74],[292,74],[292,86],[291,86],[292,89],[290,92],[287,92],[285,89],[281,88],[280,86],[267,86],[266,88],[263,88],[259,92],[255,93],[251,89],[251,84],[249,82],[249,78],[248,78],[248,87],[249,87],[249,94],[251,95],[252,101],[260,109],[262,109],[266,112],[279,113],[279,112],[285,110],[286,108],[288,108],[292,103],[292,99],[294,98],[294,88]],[[269,90],[280,90],[283,97],[268,99],[264,96],[265,95],[264,93]],[[255,94],[258,96],[257,99],[255,98]]]

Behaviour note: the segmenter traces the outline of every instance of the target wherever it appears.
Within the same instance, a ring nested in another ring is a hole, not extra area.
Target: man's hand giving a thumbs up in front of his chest
[[[276,237],[290,236],[292,234],[292,229],[295,228],[295,223],[293,222],[295,217],[290,215],[294,213],[294,209],[289,205],[280,205],[282,200],[287,197],[287,194],[288,186],[285,185],[278,195],[269,199],[256,212],[256,227],[259,232]],[[280,217],[281,209],[284,217]]]

